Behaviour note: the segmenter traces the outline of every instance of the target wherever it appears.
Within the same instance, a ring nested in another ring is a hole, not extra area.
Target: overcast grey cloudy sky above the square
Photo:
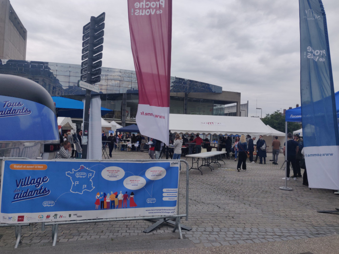
[[[127,0],[10,0],[27,29],[26,60],[80,64],[82,27],[106,13],[103,66],[134,70]],[[334,90],[339,1],[322,0]],[[248,115],[300,105],[298,0],[173,0],[171,76],[241,92]]]

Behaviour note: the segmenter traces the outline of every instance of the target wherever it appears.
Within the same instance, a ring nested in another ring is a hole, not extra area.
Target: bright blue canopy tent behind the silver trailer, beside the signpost
[[[52,96],[55,102],[58,117],[82,118],[84,104],[82,101],[68,99],[59,96]],[[111,112],[111,109],[101,107],[101,115]]]

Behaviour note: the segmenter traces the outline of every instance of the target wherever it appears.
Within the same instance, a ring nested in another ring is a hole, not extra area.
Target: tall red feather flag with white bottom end
[[[129,33],[138,80],[140,133],[168,145],[172,0],[128,0]]]

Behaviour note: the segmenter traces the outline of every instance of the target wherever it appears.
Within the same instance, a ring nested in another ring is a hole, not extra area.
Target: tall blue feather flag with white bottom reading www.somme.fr
[[[327,24],[321,0],[299,0],[300,94],[310,188],[339,189],[339,139]]]

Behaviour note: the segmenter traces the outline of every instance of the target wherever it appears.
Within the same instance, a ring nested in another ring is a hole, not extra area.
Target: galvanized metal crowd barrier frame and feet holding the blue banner
[[[27,159],[27,158],[5,158],[2,157],[0,158],[0,161],[2,163],[3,160],[15,160],[15,159]],[[81,160],[81,159],[80,159]],[[78,160],[77,160],[78,161]],[[92,161],[92,160],[81,160],[81,161]],[[99,160],[101,161],[101,160]],[[106,160],[108,161],[108,160]],[[152,160],[109,160],[109,161],[113,161],[113,162],[149,162]],[[163,161],[166,162],[168,160],[157,160],[159,162]],[[176,161],[176,160],[175,160]],[[57,242],[57,238],[58,238],[58,225],[65,225],[65,224],[79,224],[79,223],[93,223],[93,222],[108,222],[108,221],[125,221],[125,220],[157,220],[156,223],[154,223],[153,225],[151,225],[150,227],[148,227],[147,229],[145,229],[143,232],[148,233],[151,232],[152,230],[154,230],[155,228],[157,228],[158,226],[160,226],[162,223],[169,223],[174,225],[174,229],[172,232],[175,232],[177,229],[179,230],[179,234],[180,234],[180,239],[183,239],[182,237],[182,231],[181,229],[185,229],[185,230],[191,230],[192,228],[189,226],[184,226],[181,225],[181,218],[182,217],[186,217],[186,221],[188,221],[188,181],[189,181],[189,165],[185,160],[180,160],[180,162],[183,162],[186,164],[186,213],[185,214],[179,214],[179,190],[180,190],[180,186],[178,184],[178,199],[177,199],[177,215],[168,215],[168,216],[147,216],[147,217],[126,217],[126,218],[108,218],[108,219],[86,219],[86,220],[74,220],[74,221],[58,221],[58,222],[50,222],[50,223],[46,223],[46,222],[42,222],[41,223],[41,231],[45,230],[45,226],[52,226],[52,239],[53,239],[53,246],[56,245]],[[1,165],[2,168],[2,165]],[[1,176],[1,174],[0,174]],[[1,180],[1,179],[0,179]],[[175,219],[175,221],[173,221],[172,219]],[[33,224],[29,223],[29,224],[0,224],[0,227],[15,227],[15,237],[16,237],[16,244],[14,246],[14,248],[18,248],[18,245],[20,243],[21,240],[21,228],[23,226],[29,226],[30,231],[33,231]]]

